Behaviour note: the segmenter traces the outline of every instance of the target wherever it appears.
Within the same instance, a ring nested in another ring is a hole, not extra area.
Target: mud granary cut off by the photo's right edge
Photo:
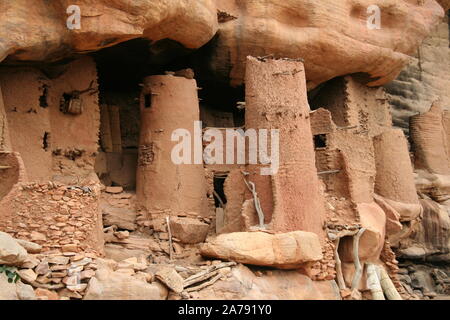
[[[430,111],[410,118],[409,130],[414,150],[414,167],[437,174],[450,174],[447,134],[442,108],[434,103]]]

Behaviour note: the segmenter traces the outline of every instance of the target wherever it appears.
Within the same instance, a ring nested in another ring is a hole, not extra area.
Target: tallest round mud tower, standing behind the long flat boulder
[[[261,175],[265,166],[260,157],[258,164],[247,168],[265,222],[276,232],[310,231],[323,239],[324,198],[315,164],[303,63],[248,57],[245,85],[246,130],[279,130],[278,171]]]

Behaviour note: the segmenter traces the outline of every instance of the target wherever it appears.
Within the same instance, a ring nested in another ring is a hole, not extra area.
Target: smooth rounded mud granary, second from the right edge
[[[419,203],[408,142],[401,129],[390,129],[373,138],[377,169],[375,192],[403,203]]]

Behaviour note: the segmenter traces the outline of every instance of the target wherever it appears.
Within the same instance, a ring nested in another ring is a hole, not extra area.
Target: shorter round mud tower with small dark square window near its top
[[[180,212],[207,215],[203,162],[193,156],[194,125],[199,117],[195,80],[173,75],[145,78],[136,193],[149,218]],[[179,140],[172,141],[173,135]],[[180,154],[186,161],[181,164],[172,159],[179,142],[185,146]],[[201,140],[197,144],[201,150]]]

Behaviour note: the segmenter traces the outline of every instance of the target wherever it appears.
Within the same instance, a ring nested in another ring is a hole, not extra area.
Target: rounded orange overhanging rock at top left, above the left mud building
[[[198,48],[217,30],[212,0],[77,1],[81,28],[69,30],[67,8],[73,1],[0,3],[0,61],[52,60],[73,52],[98,50],[144,37],[172,39]]]

